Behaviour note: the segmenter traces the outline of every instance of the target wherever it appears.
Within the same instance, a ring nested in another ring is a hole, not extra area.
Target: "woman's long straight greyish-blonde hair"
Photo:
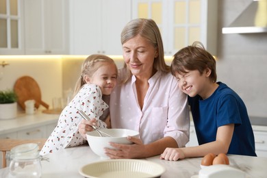
[[[168,66],[164,60],[164,48],[162,42],[162,36],[160,34],[160,29],[157,24],[152,19],[147,18],[136,18],[127,23],[123,31],[120,34],[120,42],[124,44],[127,40],[140,35],[151,42],[153,47],[158,50],[157,58],[155,58],[153,67],[157,71],[162,71],[164,73],[170,72],[170,66]],[[124,68],[127,68],[126,64]],[[131,78],[131,71],[127,69],[127,75],[122,76],[122,82],[125,83]]]

